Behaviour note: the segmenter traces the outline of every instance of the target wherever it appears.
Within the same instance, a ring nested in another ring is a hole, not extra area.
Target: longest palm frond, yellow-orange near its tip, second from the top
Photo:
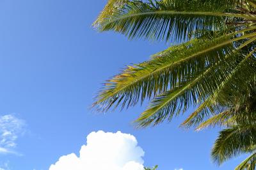
[[[190,79],[226,54],[232,53],[232,42],[255,36],[256,33],[230,39],[231,35],[221,36],[204,42],[192,40],[172,47],[161,57],[140,65],[129,66],[123,73],[109,80],[97,98],[95,105],[102,111],[110,107],[135,105],[139,100],[173,88],[177,82]]]

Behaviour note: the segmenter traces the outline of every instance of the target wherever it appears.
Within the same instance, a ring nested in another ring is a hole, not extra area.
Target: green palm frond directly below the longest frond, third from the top
[[[219,61],[218,63],[220,65],[223,62]],[[174,114],[178,115],[180,111],[185,112],[191,104],[195,105],[198,100],[204,100],[204,95],[207,96],[221,83],[221,79],[216,79],[220,74],[216,71],[219,65],[210,66],[195,79],[180,84],[154,98],[149,108],[141,114],[137,121],[142,127],[150,125],[153,121],[155,121],[154,125],[157,125],[166,118],[170,121]],[[211,85],[209,86],[209,84]]]

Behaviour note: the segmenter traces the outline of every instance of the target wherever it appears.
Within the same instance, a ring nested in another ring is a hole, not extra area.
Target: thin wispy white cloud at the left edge
[[[0,116],[0,153],[15,153],[17,139],[24,133],[26,123],[12,114]],[[1,169],[0,169],[1,170]]]

